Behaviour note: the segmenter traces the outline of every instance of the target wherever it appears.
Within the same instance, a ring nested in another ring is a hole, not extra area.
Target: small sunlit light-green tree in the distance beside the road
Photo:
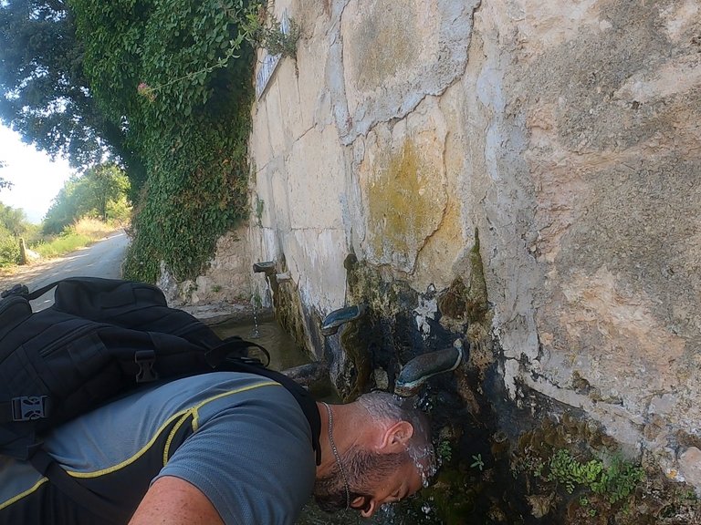
[[[124,171],[114,164],[100,164],[82,175],[74,175],[58,191],[47,211],[44,232],[62,232],[66,226],[85,216],[102,221],[125,219],[110,217],[110,210],[127,209],[125,201],[129,186]]]

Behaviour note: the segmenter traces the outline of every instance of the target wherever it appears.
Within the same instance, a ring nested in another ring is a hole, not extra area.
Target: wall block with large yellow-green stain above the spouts
[[[371,131],[359,166],[368,261],[413,271],[445,216],[445,133],[434,98],[392,127]]]

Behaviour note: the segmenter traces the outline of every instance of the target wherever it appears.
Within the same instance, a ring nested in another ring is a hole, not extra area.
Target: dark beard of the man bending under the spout
[[[403,453],[378,454],[358,447],[348,450],[341,461],[348,478],[350,500],[361,497],[365,503],[359,510],[367,507],[371,499],[371,494],[368,493],[371,485],[379,485],[379,481],[387,478],[405,460],[406,455]],[[346,489],[338,463],[327,476],[314,483],[314,500],[319,509],[326,512],[346,509]]]

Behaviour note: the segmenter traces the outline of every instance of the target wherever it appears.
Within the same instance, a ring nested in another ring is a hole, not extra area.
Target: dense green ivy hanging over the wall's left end
[[[73,0],[84,68],[148,174],[125,274],[201,271],[217,237],[246,216],[253,52],[243,0]]]

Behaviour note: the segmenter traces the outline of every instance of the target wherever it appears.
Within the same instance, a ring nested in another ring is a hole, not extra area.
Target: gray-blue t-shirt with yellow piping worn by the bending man
[[[173,451],[162,434],[183,425],[194,431]],[[153,453],[157,441],[165,450],[155,479],[189,481],[227,525],[292,524],[313,489],[309,423],[294,396],[262,376],[220,372],[141,390],[59,427],[45,449],[90,479]],[[0,509],[41,483],[31,466],[0,458]]]

